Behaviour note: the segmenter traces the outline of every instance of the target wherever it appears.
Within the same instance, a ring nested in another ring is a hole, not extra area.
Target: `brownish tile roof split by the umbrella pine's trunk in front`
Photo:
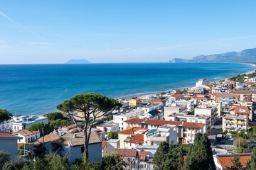
[[[84,145],[83,137],[84,137],[83,133],[80,132],[80,133],[73,135],[73,137],[71,137],[68,142],[70,143],[71,146]],[[92,131],[91,135],[90,135],[89,144],[100,143],[100,142],[102,142],[100,140],[100,137],[96,134],[95,131]]]

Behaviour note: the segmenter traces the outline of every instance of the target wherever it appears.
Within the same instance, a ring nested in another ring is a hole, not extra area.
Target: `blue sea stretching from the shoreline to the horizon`
[[[233,77],[255,69],[228,63],[10,64],[0,65],[0,108],[14,115],[56,111],[85,92],[113,98],[142,96]]]

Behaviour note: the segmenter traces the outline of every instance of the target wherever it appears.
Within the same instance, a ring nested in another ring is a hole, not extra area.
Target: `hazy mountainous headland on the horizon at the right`
[[[192,62],[256,62],[256,48],[242,50],[241,52],[225,52],[217,55],[200,55],[191,60],[174,58],[171,63]]]

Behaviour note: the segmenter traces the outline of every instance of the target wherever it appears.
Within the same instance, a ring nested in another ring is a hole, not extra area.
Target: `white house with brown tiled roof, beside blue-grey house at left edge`
[[[22,139],[18,140],[18,143],[32,143],[36,142],[40,138],[39,131],[31,131],[31,130],[18,130],[13,133],[18,137],[22,137]]]

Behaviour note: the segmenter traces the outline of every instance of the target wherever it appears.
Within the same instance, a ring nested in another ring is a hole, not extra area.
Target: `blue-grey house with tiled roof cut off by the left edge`
[[[16,135],[0,132],[0,150],[9,152],[11,154],[11,157],[17,157],[18,156],[17,140],[21,140],[21,139],[22,139],[21,137],[17,137]]]

